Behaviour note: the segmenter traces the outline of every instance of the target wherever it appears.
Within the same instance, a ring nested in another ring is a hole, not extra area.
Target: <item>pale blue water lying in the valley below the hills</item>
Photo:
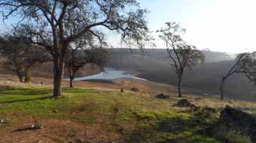
[[[130,79],[142,79],[134,76],[133,74],[127,73],[123,70],[114,70],[113,68],[106,67],[102,73],[92,75],[92,76],[84,76],[75,78],[75,81],[84,81],[84,80],[109,80],[109,79],[120,79],[120,78],[130,78]]]

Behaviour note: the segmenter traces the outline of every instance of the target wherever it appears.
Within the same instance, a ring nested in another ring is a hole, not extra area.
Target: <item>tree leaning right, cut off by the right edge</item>
[[[236,56],[235,63],[222,76],[220,85],[221,100],[224,100],[224,84],[233,74],[242,73],[252,82],[256,82],[256,52],[244,52]]]

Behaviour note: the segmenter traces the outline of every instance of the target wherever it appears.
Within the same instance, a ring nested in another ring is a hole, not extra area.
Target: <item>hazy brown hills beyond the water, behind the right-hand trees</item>
[[[165,49],[110,49],[108,67],[128,70],[139,77],[154,82],[175,85],[174,68]],[[206,94],[218,94],[221,75],[233,64],[233,58],[224,52],[203,51],[206,63],[198,65],[184,73],[183,85],[186,88],[200,90]],[[236,75],[227,81],[226,94],[233,99],[256,100],[256,87],[242,75]]]

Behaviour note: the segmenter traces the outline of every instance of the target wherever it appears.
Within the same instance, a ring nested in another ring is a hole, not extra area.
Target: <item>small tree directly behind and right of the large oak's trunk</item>
[[[90,67],[102,67],[108,59],[108,51],[103,49],[103,46],[107,46],[104,36],[99,35],[95,39],[90,33],[79,37],[71,46],[66,56],[66,68],[69,72],[69,87],[73,88],[73,80],[78,70],[86,64],[90,64]]]

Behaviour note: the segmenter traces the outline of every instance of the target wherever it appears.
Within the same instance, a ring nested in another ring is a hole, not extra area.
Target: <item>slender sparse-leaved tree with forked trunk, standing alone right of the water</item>
[[[181,94],[181,80],[186,67],[193,67],[195,64],[203,63],[205,56],[196,46],[186,43],[181,35],[186,32],[184,28],[175,22],[166,22],[166,28],[161,28],[159,37],[166,43],[166,51],[175,67],[175,73],[178,78],[178,97]]]

